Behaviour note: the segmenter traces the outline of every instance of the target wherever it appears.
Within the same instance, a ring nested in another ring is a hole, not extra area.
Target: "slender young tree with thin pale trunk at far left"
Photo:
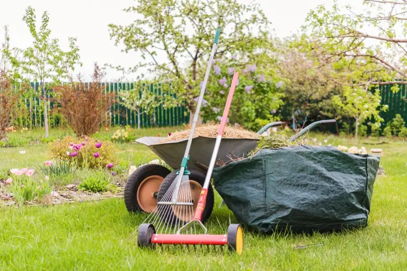
[[[45,86],[45,81],[50,80],[54,84],[60,83],[62,78],[68,78],[76,64],[82,65],[79,62],[79,48],[75,44],[75,38],[68,38],[69,51],[63,51],[59,41],[50,38],[49,16],[46,11],[41,17],[39,29],[36,26],[35,9],[31,6],[25,10],[23,21],[30,29],[33,45],[25,50],[14,48],[14,51],[20,53],[22,58],[12,57],[12,59],[14,63],[18,63],[26,76],[40,82],[44,102],[45,137],[48,137],[47,93],[49,87]]]

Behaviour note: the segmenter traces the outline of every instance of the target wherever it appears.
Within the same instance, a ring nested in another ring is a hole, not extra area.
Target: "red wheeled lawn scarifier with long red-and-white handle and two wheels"
[[[240,224],[230,224],[227,230],[227,234],[217,235],[217,234],[207,234],[207,228],[201,222],[203,209],[205,208],[206,199],[208,195],[208,188],[211,182],[212,171],[215,166],[216,157],[218,155],[219,145],[222,140],[222,135],[224,131],[224,127],[227,122],[227,115],[229,113],[230,104],[235,93],[235,88],[238,82],[239,73],[236,72],[231,86],[230,91],[227,97],[225,109],[223,111],[222,120],[219,127],[219,132],[216,137],[216,142],[214,146],[214,150],[211,157],[211,162],[209,164],[208,172],[206,174],[205,183],[203,184],[199,201],[197,203],[197,207],[195,210],[195,214],[193,219],[180,227],[180,224],[175,223],[175,228],[178,229],[177,233],[170,234],[167,233],[167,229],[165,229],[164,233],[157,233],[156,229],[153,224],[151,223],[144,223],[141,224],[138,230],[138,238],[137,244],[140,247],[153,247],[154,244],[158,245],[220,245],[220,246],[228,246],[229,250],[236,251],[239,255],[242,254],[243,251],[243,230]],[[190,187],[189,183],[187,185],[182,186],[181,195],[186,196],[182,199],[190,198]],[[180,221],[180,215],[183,214],[179,212],[181,209],[184,210],[185,206],[180,206],[178,204],[172,205],[172,212],[161,213],[162,217],[159,223],[166,223],[169,227],[173,226],[174,224],[173,219],[178,217],[178,221]],[[190,205],[192,211],[192,205]],[[178,209],[178,210],[176,210]],[[178,216],[177,216],[178,215]],[[187,213],[188,215],[188,213]],[[204,234],[188,234],[188,230],[195,229],[195,226],[200,227],[205,231]],[[160,226],[158,226],[159,228]],[[184,234],[186,233],[186,234]]]

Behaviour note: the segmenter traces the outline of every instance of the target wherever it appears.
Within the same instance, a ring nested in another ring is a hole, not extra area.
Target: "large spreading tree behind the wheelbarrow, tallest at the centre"
[[[139,0],[125,11],[136,13],[137,19],[125,26],[110,24],[109,31],[115,45],[124,44],[124,52],[141,53],[143,61],[127,72],[147,68],[157,81],[170,82],[171,92],[177,95],[173,102],[186,105],[191,118],[218,26],[222,34],[215,59],[234,54],[242,66],[249,59],[268,62],[266,52],[272,48],[270,22],[256,4],[242,5],[236,0]],[[115,68],[125,71],[120,66]]]

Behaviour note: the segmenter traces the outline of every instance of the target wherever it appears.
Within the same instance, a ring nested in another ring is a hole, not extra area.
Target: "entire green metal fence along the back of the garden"
[[[129,91],[129,89],[134,88],[134,83],[129,82],[114,82],[114,83],[101,83],[102,86],[106,86],[105,92],[111,94],[119,94],[123,91]],[[38,82],[31,83],[32,88],[39,89],[40,85]],[[163,95],[161,84],[147,84],[144,85],[149,88],[151,92],[154,92],[158,96]],[[381,115],[384,118],[386,125],[396,114],[400,114],[407,123],[407,89],[406,85],[400,85],[400,91],[398,93],[393,93],[391,91],[392,85],[382,85],[381,95],[382,95],[382,105],[387,104],[389,110],[387,112],[382,112]],[[166,93],[167,95],[172,95],[172,97],[177,98],[176,95]],[[141,97],[141,92],[140,92]],[[20,117],[17,120],[17,124],[20,126],[43,126],[43,103],[42,97],[22,97],[22,102],[20,103]],[[126,126],[130,125],[132,127],[137,127],[138,116],[137,113],[127,109],[120,101],[117,95],[113,101],[113,106],[110,112],[106,114],[106,124],[109,126]],[[58,108],[54,107],[52,102],[52,97],[48,97],[50,105],[50,125],[55,127],[61,122],[61,114],[58,112]],[[281,108],[283,110],[285,106]],[[149,127],[165,127],[165,126],[177,126],[189,123],[189,111],[183,106],[174,106],[172,108],[163,108],[159,106],[155,108],[154,116],[147,115],[143,110],[140,114],[140,126],[141,128]],[[155,122],[153,121],[155,119]],[[290,119],[290,115],[287,113],[287,119]],[[384,127],[384,126],[383,126]]]

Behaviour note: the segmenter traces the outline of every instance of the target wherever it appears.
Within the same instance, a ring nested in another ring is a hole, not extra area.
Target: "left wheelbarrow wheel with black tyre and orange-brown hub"
[[[148,164],[137,168],[127,180],[124,202],[130,213],[151,213],[157,206],[158,189],[171,171],[164,166]]]

